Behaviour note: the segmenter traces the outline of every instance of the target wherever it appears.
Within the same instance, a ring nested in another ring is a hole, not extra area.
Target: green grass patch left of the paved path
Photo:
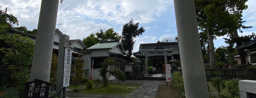
[[[109,95],[128,95],[133,90],[138,88],[140,85],[134,85],[134,84],[112,84],[110,83],[107,87],[100,87],[95,88],[93,86],[93,89],[87,89],[80,90],[76,93],[83,93],[83,94],[109,94]],[[127,88],[131,87],[131,88]],[[74,92],[73,92],[74,93]]]

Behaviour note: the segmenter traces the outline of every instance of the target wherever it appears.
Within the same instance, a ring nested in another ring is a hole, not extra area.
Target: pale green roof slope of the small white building
[[[119,44],[120,42],[100,42],[87,49],[110,49]]]

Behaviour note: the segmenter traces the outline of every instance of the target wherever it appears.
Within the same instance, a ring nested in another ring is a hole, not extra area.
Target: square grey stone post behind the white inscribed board
[[[59,39],[59,52],[58,52],[58,65],[57,65],[57,80],[56,80],[56,94],[59,94],[58,98],[63,97],[63,69],[64,69],[64,51],[69,46],[69,36],[66,34],[60,35]],[[71,55],[72,56],[72,55]]]

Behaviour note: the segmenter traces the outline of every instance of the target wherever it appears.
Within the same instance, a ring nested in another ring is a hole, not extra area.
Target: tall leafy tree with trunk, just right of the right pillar
[[[248,0],[195,0],[199,29],[207,31],[211,68],[217,68],[214,38],[233,33],[239,28],[239,15],[247,8],[246,1]]]

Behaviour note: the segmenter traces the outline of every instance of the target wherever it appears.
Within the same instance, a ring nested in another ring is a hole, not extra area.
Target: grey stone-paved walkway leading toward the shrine
[[[165,77],[162,74],[155,74],[153,77]],[[166,81],[157,80],[110,80],[111,83],[119,84],[140,84],[136,90],[127,96],[124,95],[98,95],[98,94],[76,94],[68,93],[68,98],[155,98],[159,85],[166,85]]]

